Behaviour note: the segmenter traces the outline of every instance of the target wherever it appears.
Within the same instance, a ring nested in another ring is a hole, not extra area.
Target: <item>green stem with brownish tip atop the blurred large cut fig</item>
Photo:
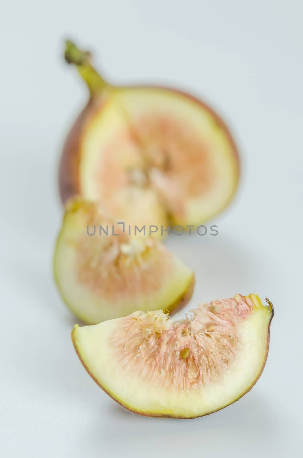
[[[81,51],[81,49],[70,40],[66,40],[65,42],[64,58],[68,64],[76,65],[81,77],[87,83],[91,97],[102,93],[104,89],[110,87],[108,82],[106,82],[92,66],[91,53],[88,51]]]

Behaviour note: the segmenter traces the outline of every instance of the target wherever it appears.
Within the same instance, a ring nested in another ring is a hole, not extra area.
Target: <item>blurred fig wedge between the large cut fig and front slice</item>
[[[100,202],[67,202],[54,253],[54,276],[65,303],[96,324],[145,311],[174,311],[193,291],[194,273],[160,240],[129,236]]]

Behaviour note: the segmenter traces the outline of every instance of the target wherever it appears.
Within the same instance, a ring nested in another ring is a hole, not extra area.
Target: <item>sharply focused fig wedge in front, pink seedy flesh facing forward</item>
[[[247,393],[267,359],[272,304],[258,295],[200,304],[180,321],[162,311],[79,327],[82,365],[124,408],[141,415],[196,418]]]

